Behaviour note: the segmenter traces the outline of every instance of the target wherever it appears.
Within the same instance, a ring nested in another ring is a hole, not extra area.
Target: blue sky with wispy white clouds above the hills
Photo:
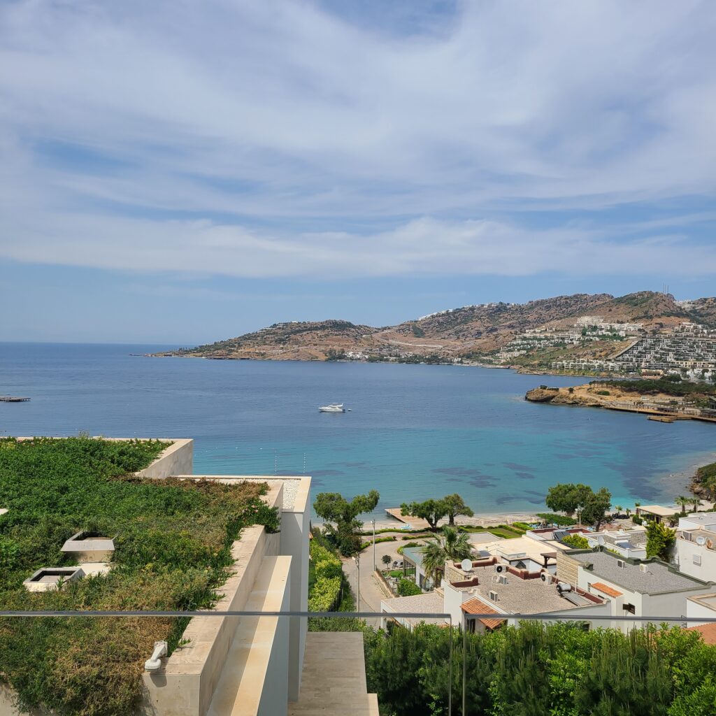
[[[0,340],[716,294],[711,0],[5,0]]]

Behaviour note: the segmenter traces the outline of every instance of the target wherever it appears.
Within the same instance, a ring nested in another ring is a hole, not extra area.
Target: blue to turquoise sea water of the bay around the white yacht
[[[614,504],[672,501],[711,461],[716,426],[535,405],[579,378],[451,366],[132,357],[147,345],[0,344],[1,435],[195,438],[207,474],[302,474],[314,494],[376,488],[379,505],[458,492],[478,513],[543,507],[549,485]],[[319,413],[326,402],[352,412]]]

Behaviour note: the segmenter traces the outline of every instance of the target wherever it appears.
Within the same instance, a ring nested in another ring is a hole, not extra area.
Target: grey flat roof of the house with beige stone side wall
[[[571,553],[570,557],[581,562],[586,569],[591,569],[594,576],[642,594],[664,594],[670,591],[696,589],[705,584],[700,579],[682,574],[668,564],[655,559],[631,561],[607,551]],[[619,566],[618,561],[625,566]],[[647,571],[642,570],[642,565],[647,566]]]

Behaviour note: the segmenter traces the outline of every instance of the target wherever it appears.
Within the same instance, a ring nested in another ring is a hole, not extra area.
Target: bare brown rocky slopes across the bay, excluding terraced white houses
[[[639,322],[647,329],[687,320],[714,325],[716,299],[677,302],[673,296],[653,291],[616,298],[610,294],[574,294],[526,304],[463,306],[383,328],[342,320],[280,323],[237,338],[159,355],[325,360],[354,352],[372,359],[405,359],[410,354],[432,359],[480,359],[527,329],[566,326],[581,316],[601,316],[615,323]],[[609,354],[614,347],[599,349]]]

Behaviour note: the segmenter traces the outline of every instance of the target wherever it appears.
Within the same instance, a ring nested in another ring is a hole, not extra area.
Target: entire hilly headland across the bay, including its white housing
[[[716,301],[642,291],[575,294],[527,304],[493,302],[435,311],[397,326],[290,321],[165,357],[458,363],[521,372],[644,374],[710,379]]]

